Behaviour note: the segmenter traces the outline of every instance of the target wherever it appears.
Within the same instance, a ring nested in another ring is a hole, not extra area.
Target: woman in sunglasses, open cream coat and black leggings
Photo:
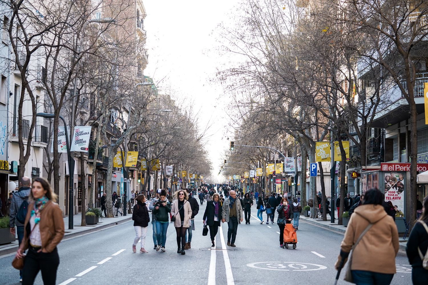
[[[186,230],[190,227],[190,220],[192,219],[192,207],[190,207],[189,201],[187,201],[187,192],[184,190],[178,190],[176,193],[176,199],[172,202],[171,214],[175,217],[174,226],[175,232],[177,233],[177,253],[182,255],[186,254],[184,251],[184,245],[186,244]]]

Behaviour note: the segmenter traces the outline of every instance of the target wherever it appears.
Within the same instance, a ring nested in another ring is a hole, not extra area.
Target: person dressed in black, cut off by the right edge
[[[413,285],[427,284],[428,270],[422,266],[422,260],[428,250],[428,196],[422,204],[422,215],[410,232],[407,241],[407,258],[412,265]]]

